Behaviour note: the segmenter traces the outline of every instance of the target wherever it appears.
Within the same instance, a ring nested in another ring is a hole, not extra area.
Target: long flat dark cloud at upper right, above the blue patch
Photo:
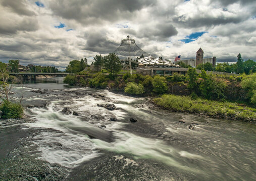
[[[236,16],[236,17],[194,17],[187,18],[186,15],[182,15],[176,18],[173,18],[175,23],[178,23],[181,27],[212,27],[216,25],[225,25],[228,23],[240,23],[248,19],[246,16]]]

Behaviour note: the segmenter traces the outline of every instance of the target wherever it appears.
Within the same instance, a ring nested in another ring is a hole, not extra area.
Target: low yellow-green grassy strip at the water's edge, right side
[[[217,102],[203,99],[192,100],[186,96],[163,95],[153,99],[158,106],[176,112],[200,114],[229,120],[256,121],[256,109],[236,103]]]

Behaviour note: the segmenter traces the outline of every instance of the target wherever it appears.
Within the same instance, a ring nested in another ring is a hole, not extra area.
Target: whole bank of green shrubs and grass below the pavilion
[[[101,70],[68,75],[64,82],[76,86],[107,88],[126,95],[152,97],[155,98],[153,103],[171,111],[252,122],[256,118],[256,73],[226,77],[207,74],[204,70],[197,74],[195,69],[190,68],[186,76],[126,73],[114,77],[106,73],[106,70]]]

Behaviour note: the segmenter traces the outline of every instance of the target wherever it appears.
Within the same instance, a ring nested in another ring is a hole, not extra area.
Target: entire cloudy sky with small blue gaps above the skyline
[[[251,0],[0,0],[0,61],[64,69],[71,60],[115,51],[129,35],[154,56],[174,60],[256,60]]]

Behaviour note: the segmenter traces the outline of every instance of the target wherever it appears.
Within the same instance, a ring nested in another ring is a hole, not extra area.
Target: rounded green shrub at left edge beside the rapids
[[[21,118],[23,116],[24,110],[20,104],[11,103],[4,101],[0,106],[0,110],[3,112],[1,118]]]

